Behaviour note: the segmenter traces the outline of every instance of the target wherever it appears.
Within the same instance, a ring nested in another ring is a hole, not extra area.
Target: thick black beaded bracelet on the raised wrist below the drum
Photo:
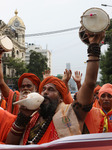
[[[97,43],[92,43],[89,45],[88,47],[88,54],[99,57],[101,50],[100,50],[100,46]]]

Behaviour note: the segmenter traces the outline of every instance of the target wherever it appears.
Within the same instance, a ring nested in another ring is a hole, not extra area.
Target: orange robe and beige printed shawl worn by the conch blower
[[[37,114],[39,116],[39,114]],[[37,118],[38,121],[38,118]],[[29,123],[21,144],[25,145],[28,140],[31,124]],[[81,134],[80,124],[71,105],[63,102],[58,106],[53,120],[49,124],[43,137],[37,144],[48,143],[58,138]]]

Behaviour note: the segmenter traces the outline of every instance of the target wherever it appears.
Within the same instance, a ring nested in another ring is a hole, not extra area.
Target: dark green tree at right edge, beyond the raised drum
[[[108,44],[107,51],[101,54],[100,61],[100,74],[101,84],[112,84],[112,19],[110,20],[110,26],[106,31],[105,44]]]

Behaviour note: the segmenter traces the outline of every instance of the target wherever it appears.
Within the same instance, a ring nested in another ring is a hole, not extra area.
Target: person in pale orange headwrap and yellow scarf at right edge
[[[89,133],[112,132],[112,84],[104,84],[99,90],[101,108],[93,107],[85,119]]]

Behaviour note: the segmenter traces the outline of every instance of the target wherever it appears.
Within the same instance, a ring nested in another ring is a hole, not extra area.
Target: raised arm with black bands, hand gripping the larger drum
[[[100,42],[104,38],[104,33],[89,36],[90,45],[88,47],[88,60],[85,80],[77,93],[77,105],[73,104],[77,117],[80,121],[84,121],[87,112],[91,109],[93,100],[93,91],[97,80],[100,56]]]

